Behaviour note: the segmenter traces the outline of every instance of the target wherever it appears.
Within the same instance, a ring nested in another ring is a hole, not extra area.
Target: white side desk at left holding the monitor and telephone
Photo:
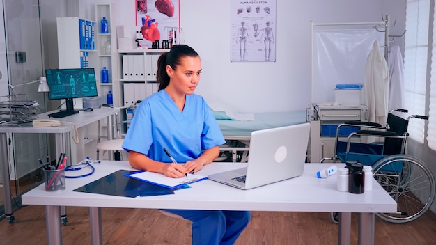
[[[79,132],[79,144],[81,147],[77,148],[77,154],[84,155],[84,137],[82,127],[97,122],[98,120],[107,118],[107,125],[112,125],[111,116],[117,113],[119,109],[104,107],[100,109],[94,109],[94,111],[80,111],[72,116],[66,116],[65,118],[54,118],[60,120],[61,122],[72,123],[77,127]],[[56,111],[49,111],[38,115],[38,119],[49,118],[47,116],[49,113]],[[112,136],[111,127],[107,127],[107,135]],[[70,143],[69,140],[65,139],[65,135],[72,132],[73,127],[71,125],[61,125],[59,127],[33,127],[30,124],[27,125],[0,125],[0,161],[3,167],[2,177],[3,177],[3,189],[4,189],[4,200],[5,200],[5,214],[9,219],[10,223],[13,223],[14,217],[12,215],[12,201],[10,198],[10,177],[9,177],[9,164],[8,164],[8,141],[6,139],[6,134],[8,133],[20,133],[20,134],[55,134],[56,143],[56,156],[59,156],[61,152],[65,152],[68,149]],[[70,156],[71,157],[71,156]],[[74,159],[74,158],[73,158]],[[36,160],[36,159],[35,159]],[[76,160],[79,161],[79,160]],[[76,162],[74,161],[74,162]]]

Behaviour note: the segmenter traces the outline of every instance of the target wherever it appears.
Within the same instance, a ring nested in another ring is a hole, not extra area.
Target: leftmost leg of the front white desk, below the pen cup
[[[62,244],[60,214],[59,206],[45,206],[45,229],[47,230],[47,244],[49,245]]]

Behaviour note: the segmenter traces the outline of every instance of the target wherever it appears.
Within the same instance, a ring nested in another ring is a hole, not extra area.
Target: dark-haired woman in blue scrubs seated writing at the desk
[[[187,45],[174,45],[157,61],[159,91],[134,110],[123,148],[133,168],[183,177],[201,170],[225,143],[203,97],[194,94],[201,60]],[[164,148],[176,159],[175,164]],[[248,211],[166,210],[192,221],[192,244],[234,244],[250,220]]]

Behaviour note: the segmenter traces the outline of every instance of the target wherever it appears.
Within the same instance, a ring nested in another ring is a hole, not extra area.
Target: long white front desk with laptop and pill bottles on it
[[[337,164],[344,166],[344,164]],[[199,175],[209,175],[246,164],[213,163]],[[359,212],[359,244],[373,244],[374,213],[396,212],[396,202],[373,180],[373,190],[363,194],[336,191],[336,175],[316,178],[316,171],[325,164],[306,164],[304,174],[247,191],[203,180],[192,188],[175,191],[174,195],[125,198],[72,191],[120,169],[130,170],[127,161],[102,161],[95,164],[95,173],[80,179],[67,179],[66,189],[45,191],[44,184],[22,195],[25,205],[45,205],[47,242],[62,244],[59,206],[90,207],[91,242],[102,244],[100,207],[166,208],[192,210],[253,210],[286,212],[341,212],[339,244],[350,243],[351,213]],[[329,165],[330,166],[330,165]]]

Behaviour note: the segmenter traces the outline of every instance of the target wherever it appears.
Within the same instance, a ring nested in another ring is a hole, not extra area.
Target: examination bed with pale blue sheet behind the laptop
[[[235,120],[226,116],[224,111],[214,111],[214,115],[224,135],[224,139],[226,139],[226,144],[220,147],[221,152],[231,152],[232,161],[240,160],[241,162],[247,161],[251,132],[306,122],[305,109],[299,111],[253,113],[253,120]],[[243,152],[240,159],[237,159],[238,152]],[[218,161],[227,158],[225,155],[221,156],[223,158],[217,159]]]

